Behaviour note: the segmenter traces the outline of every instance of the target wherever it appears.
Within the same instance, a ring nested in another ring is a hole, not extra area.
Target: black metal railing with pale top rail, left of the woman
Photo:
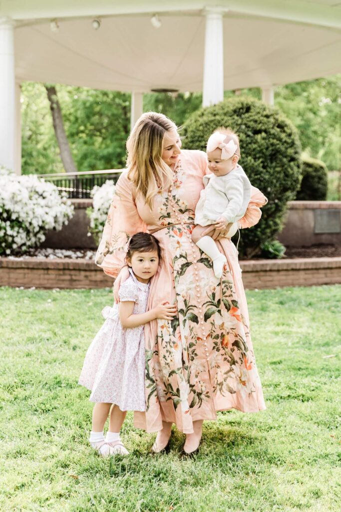
[[[65,192],[70,199],[89,199],[95,185],[101,186],[107,180],[114,183],[123,169],[90,170],[82,173],[40,174],[40,178],[51,181],[58,190]]]

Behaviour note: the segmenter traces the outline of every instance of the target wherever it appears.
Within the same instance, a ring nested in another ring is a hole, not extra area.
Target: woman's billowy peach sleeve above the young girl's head
[[[115,187],[102,239],[96,252],[95,263],[104,272],[116,278],[124,266],[126,244],[133,234],[147,232],[139,216],[132,194],[132,185],[124,171]]]

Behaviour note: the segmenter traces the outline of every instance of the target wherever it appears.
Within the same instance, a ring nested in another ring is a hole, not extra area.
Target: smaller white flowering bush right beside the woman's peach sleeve
[[[107,180],[100,187],[95,186],[91,191],[93,207],[86,210],[90,219],[90,232],[88,234],[93,235],[97,244],[100,242],[114,192],[115,184],[112,180]]]

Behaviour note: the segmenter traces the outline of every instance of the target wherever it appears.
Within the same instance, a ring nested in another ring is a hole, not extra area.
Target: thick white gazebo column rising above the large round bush
[[[224,99],[224,61],[222,10],[207,8],[203,61],[202,106]]]

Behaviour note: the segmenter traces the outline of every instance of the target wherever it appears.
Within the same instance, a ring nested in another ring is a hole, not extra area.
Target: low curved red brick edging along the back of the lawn
[[[341,257],[241,261],[245,288],[341,284]],[[113,279],[93,261],[0,258],[0,286],[104,288]]]

